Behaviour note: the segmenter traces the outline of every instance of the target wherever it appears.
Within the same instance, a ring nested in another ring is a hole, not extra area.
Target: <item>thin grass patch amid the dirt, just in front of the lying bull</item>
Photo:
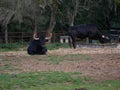
[[[43,59],[44,58],[44,59]],[[64,56],[50,56],[43,58],[36,58],[38,61],[45,61],[47,64],[59,64],[62,61],[80,61],[80,60],[92,60],[90,55],[81,55],[81,54],[69,54]]]

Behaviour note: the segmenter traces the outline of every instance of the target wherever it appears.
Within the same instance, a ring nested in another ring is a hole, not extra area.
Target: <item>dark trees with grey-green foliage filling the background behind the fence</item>
[[[15,31],[15,24],[25,32],[52,33],[65,30],[67,24],[86,23],[109,30],[120,25],[119,11],[120,0],[0,0],[0,31],[7,42],[7,32]]]

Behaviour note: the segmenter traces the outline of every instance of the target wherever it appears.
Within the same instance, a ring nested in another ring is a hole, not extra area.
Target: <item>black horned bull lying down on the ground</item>
[[[27,49],[28,54],[30,54],[30,55],[46,54],[47,48],[45,47],[45,42],[46,42],[46,40],[45,40],[44,36],[41,36],[40,38],[32,40]]]

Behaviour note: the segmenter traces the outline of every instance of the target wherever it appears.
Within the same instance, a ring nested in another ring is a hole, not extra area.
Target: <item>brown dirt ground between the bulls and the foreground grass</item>
[[[55,60],[60,58],[61,61],[57,64],[48,63],[50,57]],[[80,72],[99,81],[120,80],[120,49],[60,48],[49,50],[47,55],[34,56],[26,51],[0,52],[0,73],[29,71]]]

